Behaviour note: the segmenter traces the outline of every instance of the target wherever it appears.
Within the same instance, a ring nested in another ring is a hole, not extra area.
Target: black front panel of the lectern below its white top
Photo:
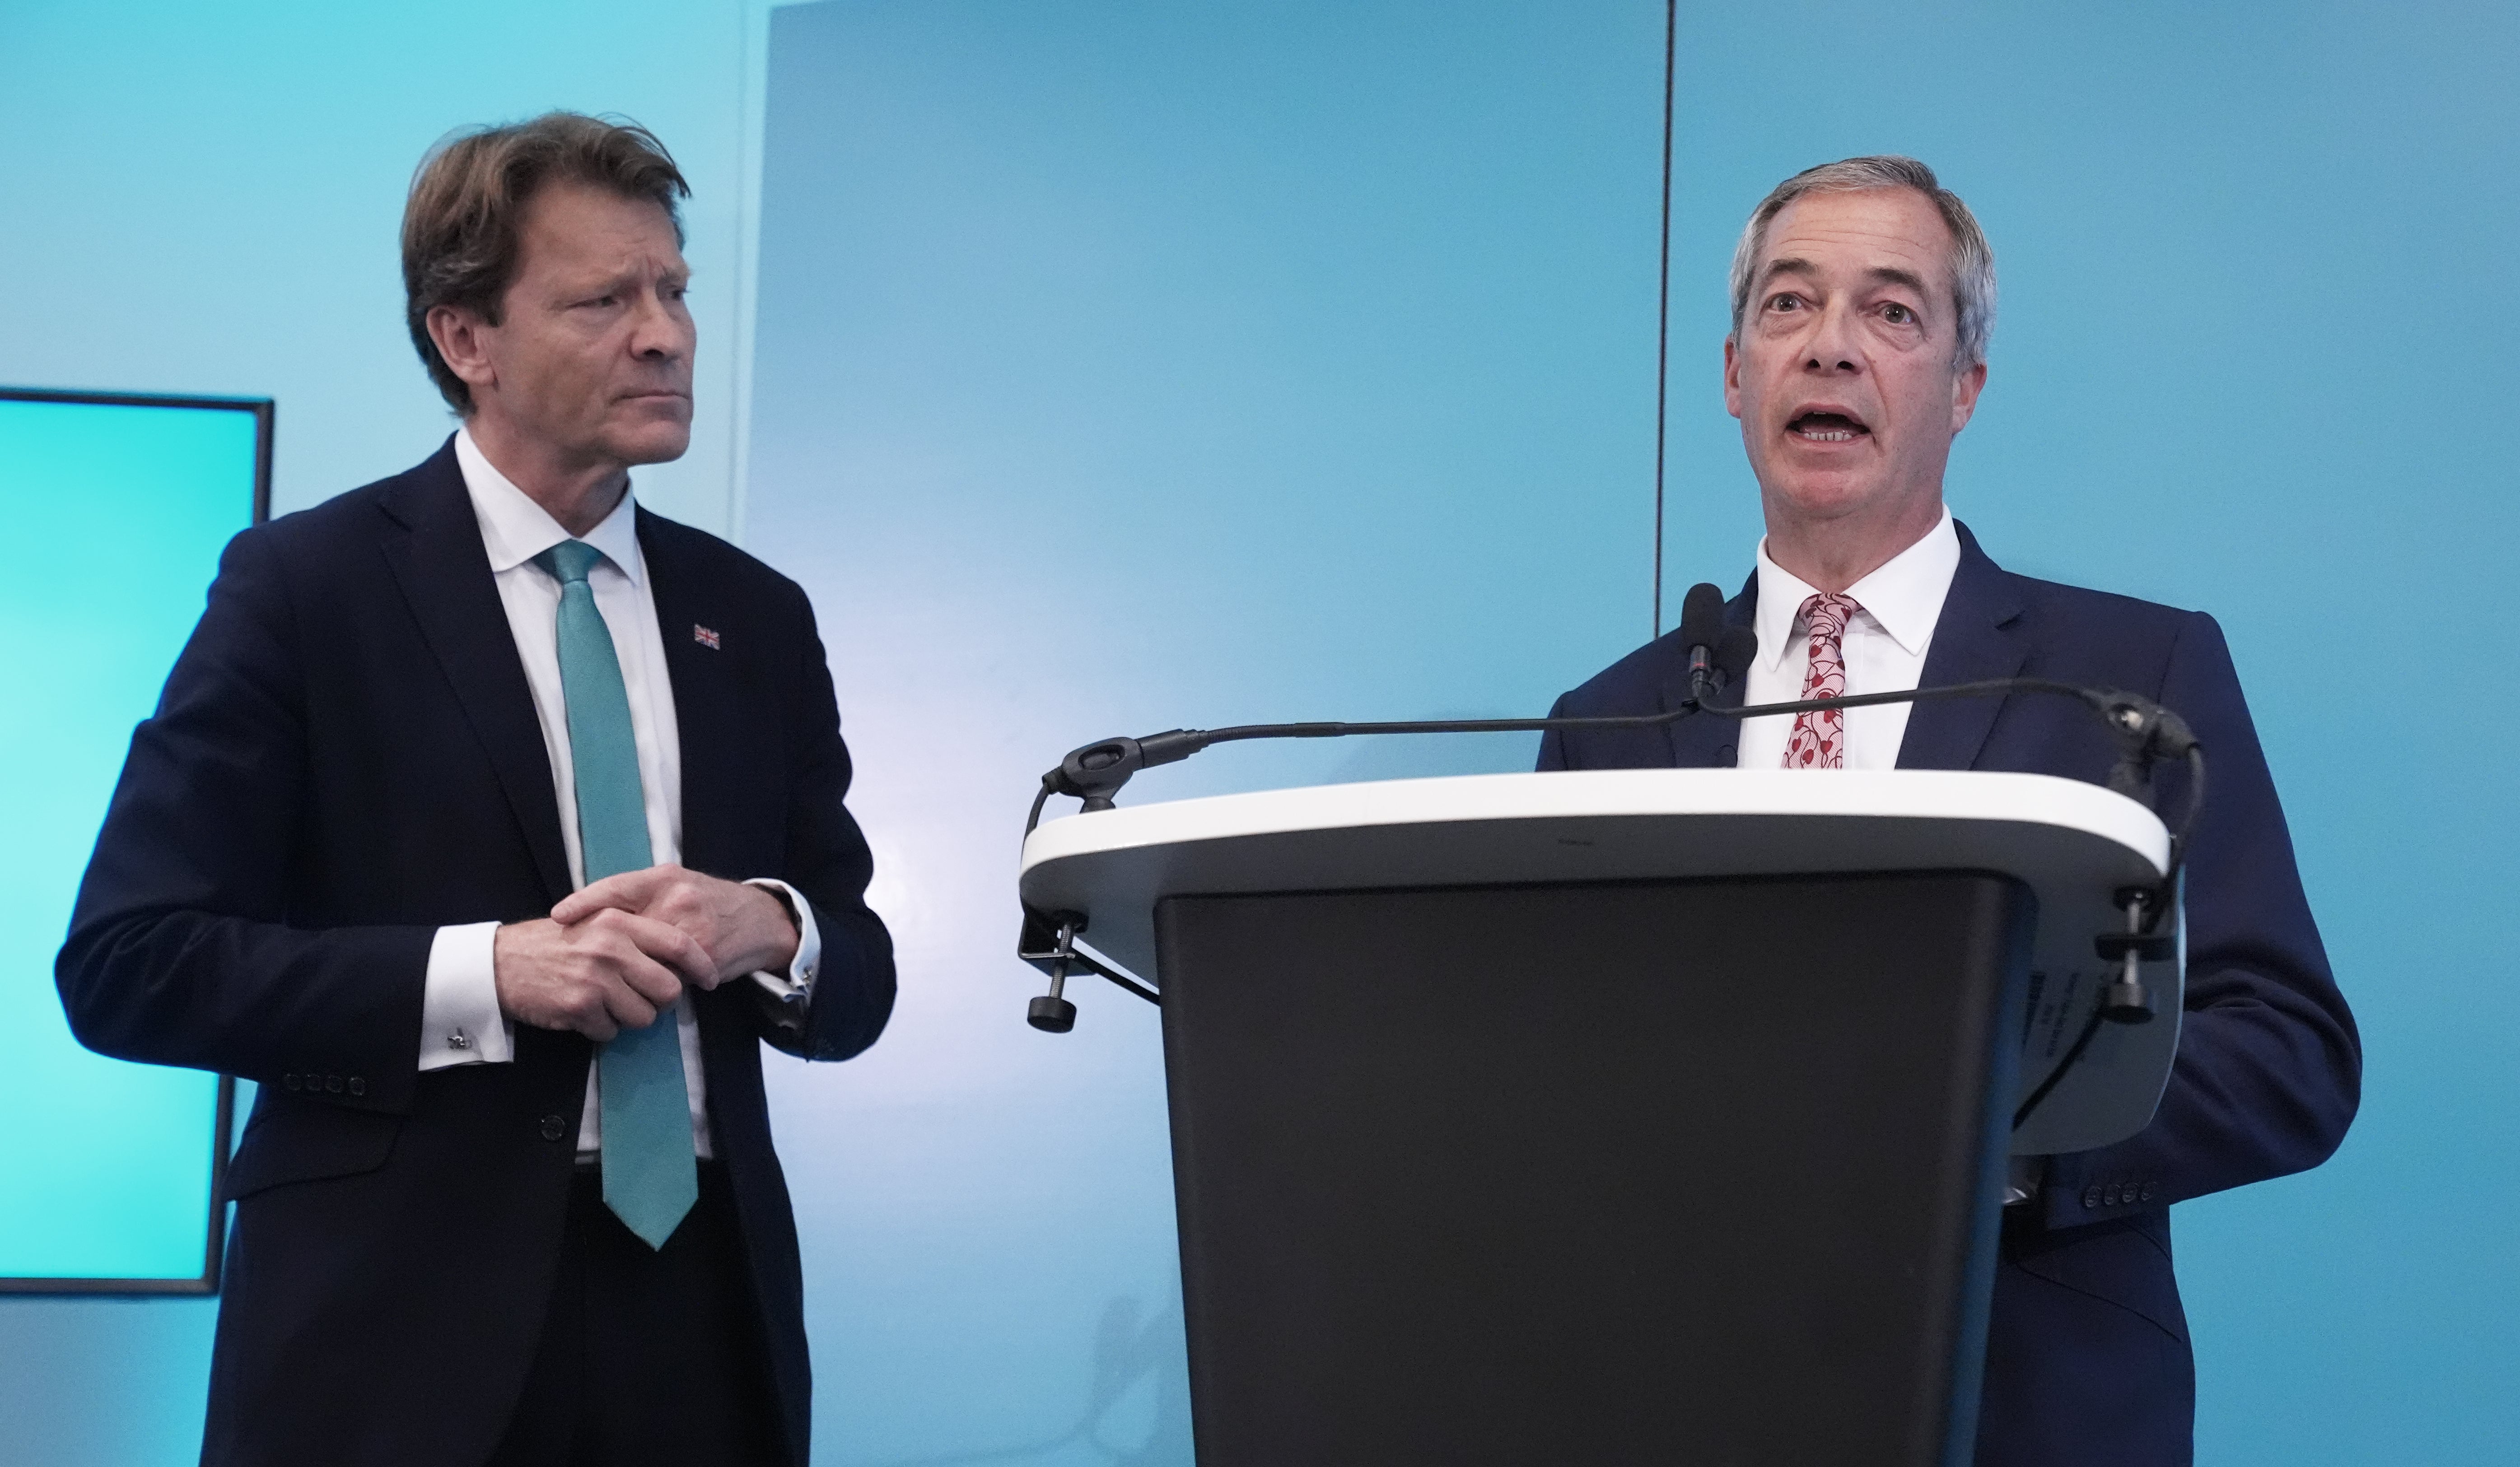
[[[2034,897],[1167,897],[1202,1467],[1968,1459]]]

